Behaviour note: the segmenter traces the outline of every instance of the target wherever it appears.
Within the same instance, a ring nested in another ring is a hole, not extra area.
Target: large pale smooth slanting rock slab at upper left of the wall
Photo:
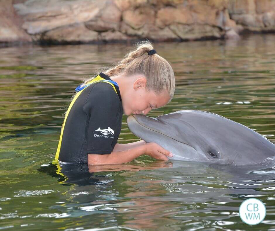
[[[18,14],[24,18],[23,28],[29,34],[92,20],[104,6],[105,0],[32,0],[24,4],[14,4]]]

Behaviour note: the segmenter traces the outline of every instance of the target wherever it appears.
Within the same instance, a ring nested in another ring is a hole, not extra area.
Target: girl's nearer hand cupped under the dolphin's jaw
[[[167,156],[172,157],[173,154],[157,143],[151,142],[145,144],[145,154],[155,159],[168,160]]]

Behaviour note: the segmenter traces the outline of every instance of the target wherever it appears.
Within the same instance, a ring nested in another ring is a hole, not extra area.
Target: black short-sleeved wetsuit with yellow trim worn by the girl
[[[56,161],[87,163],[88,154],[113,151],[123,114],[115,84],[101,72],[75,95],[62,125]]]

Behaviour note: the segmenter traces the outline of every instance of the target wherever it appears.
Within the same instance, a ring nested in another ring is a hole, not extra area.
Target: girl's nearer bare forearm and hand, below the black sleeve
[[[146,143],[131,149],[110,154],[88,154],[88,164],[122,164],[147,154],[155,159],[168,160],[166,156],[172,157],[173,154],[156,143]]]

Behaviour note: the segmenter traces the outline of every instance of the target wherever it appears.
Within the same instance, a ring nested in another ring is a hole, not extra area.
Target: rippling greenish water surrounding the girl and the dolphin
[[[175,97],[151,111],[218,113],[275,142],[275,35],[241,41],[158,43],[176,73]],[[24,46],[0,49],[0,229],[275,230],[275,160],[254,166],[158,161],[120,165],[51,164],[62,114],[76,86],[120,60],[128,45]],[[118,142],[139,140],[126,116]],[[246,225],[247,198],[267,215]],[[97,229],[96,229],[97,228]]]

